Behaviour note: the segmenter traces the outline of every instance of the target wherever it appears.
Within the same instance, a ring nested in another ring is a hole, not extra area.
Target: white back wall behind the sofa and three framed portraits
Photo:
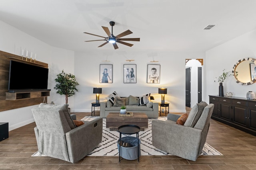
[[[112,49],[111,49],[112,51]],[[151,57],[147,52],[126,53],[120,55],[117,51],[112,52],[106,60],[106,53],[95,49],[87,53],[75,53],[75,75],[80,86],[75,94],[75,111],[91,111],[91,102],[95,102],[94,87],[102,88],[100,101],[105,100],[110,93],[116,91],[119,96],[142,96],[151,93],[155,101],[161,101],[158,88],[168,88],[165,101],[170,103],[170,112],[185,112],[185,66],[187,58],[204,58],[204,53],[171,53],[158,52],[154,57],[158,63],[150,63]],[[135,61],[127,62],[126,59]],[[113,83],[100,83],[100,64],[113,64]],[[137,64],[137,83],[123,83],[123,64]],[[160,64],[160,84],[146,83],[147,64]]]

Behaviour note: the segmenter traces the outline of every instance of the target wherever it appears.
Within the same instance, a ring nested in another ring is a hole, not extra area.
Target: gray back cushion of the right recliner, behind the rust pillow
[[[184,126],[194,127],[202,115],[202,112],[204,110],[204,107],[206,107],[208,104],[206,102],[200,102],[199,104],[196,104],[192,107],[190,113],[188,114],[188,119],[184,123]]]

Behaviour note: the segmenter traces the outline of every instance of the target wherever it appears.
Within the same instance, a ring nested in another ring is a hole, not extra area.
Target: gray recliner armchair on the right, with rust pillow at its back
[[[202,102],[201,102],[202,103]],[[214,104],[196,104],[184,125],[176,124],[180,115],[169,113],[166,121],[152,121],[152,145],[170,154],[196,161],[208,134]]]

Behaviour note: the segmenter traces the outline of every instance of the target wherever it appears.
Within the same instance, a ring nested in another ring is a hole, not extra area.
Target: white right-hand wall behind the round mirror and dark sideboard
[[[206,51],[205,67],[205,95],[218,95],[218,80],[216,77],[222,74],[222,70],[232,71],[234,64],[247,57],[256,59],[256,30],[236,37],[222,45]],[[217,80],[214,82],[214,80]],[[228,77],[224,82],[224,94],[232,92],[233,96],[246,98],[248,91],[256,92],[256,83],[242,86],[236,83],[234,76]]]

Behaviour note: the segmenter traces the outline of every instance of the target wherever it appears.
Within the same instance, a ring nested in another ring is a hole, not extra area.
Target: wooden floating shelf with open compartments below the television
[[[50,96],[50,91],[40,91],[40,92],[6,92],[6,100],[23,100],[30,98],[40,98],[44,96]]]

